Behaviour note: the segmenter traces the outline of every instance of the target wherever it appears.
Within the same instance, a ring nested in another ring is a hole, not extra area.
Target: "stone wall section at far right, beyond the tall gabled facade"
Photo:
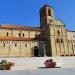
[[[67,31],[68,49],[70,55],[75,55],[75,32]]]

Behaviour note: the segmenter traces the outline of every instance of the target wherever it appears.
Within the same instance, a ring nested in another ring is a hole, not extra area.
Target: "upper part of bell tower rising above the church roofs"
[[[41,29],[47,29],[48,24],[53,24],[54,9],[51,6],[44,5],[40,9],[40,27]]]

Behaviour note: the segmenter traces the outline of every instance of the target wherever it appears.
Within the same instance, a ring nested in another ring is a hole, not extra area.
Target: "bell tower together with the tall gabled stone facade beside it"
[[[40,27],[47,41],[47,56],[69,55],[65,25],[54,17],[54,9],[44,5],[40,9]]]

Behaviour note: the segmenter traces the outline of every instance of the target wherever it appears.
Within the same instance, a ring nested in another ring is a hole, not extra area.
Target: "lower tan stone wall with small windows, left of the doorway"
[[[34,56],[34,46],[42,47],[43,41],[0,41],[0,56]]]

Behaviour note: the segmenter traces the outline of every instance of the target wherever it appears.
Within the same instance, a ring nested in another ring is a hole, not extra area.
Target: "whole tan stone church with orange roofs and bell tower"
[[[0,57],[75,56],[75,31],[54,16],[52,6],[40,9],[40,27],[0,24]]]

